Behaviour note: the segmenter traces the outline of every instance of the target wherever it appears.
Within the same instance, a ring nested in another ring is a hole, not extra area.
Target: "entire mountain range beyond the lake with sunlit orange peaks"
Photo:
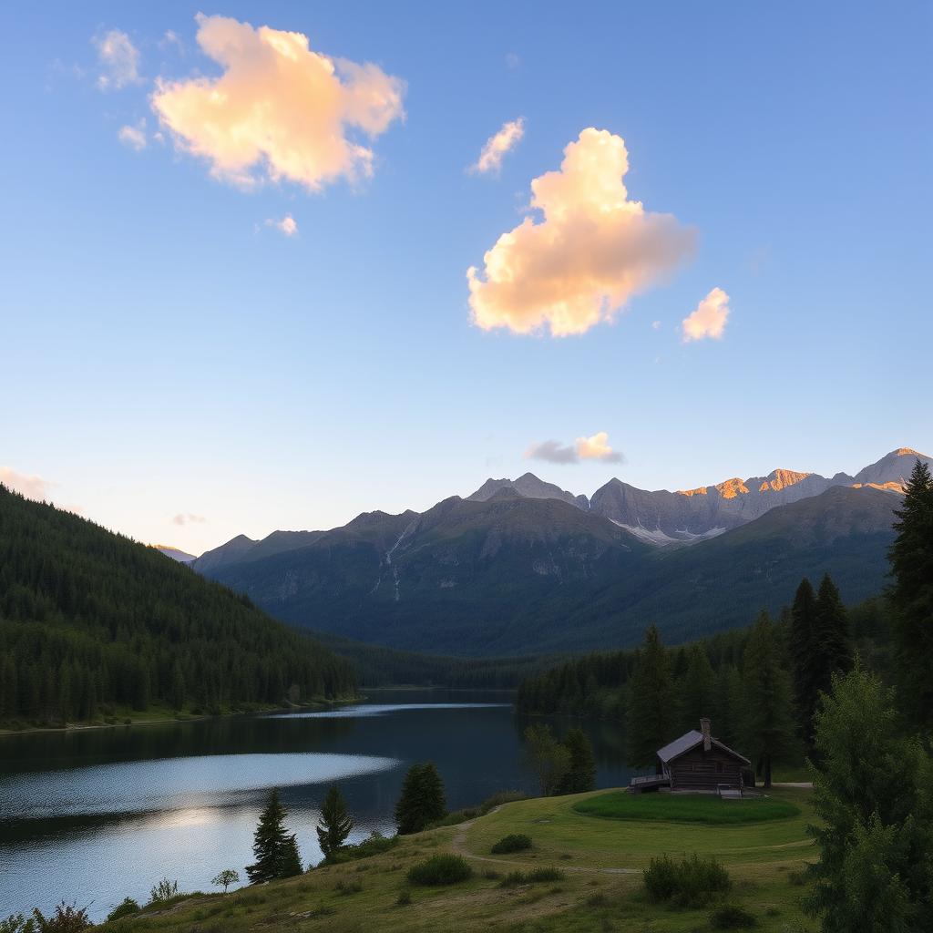
[[[773,470],[681,492],[610,480],[591,497],[525,474],[423,513],[238,536],[192,566],[300,627],[461,655],[620,647],[650,621],[685,640],[777,611],[805,575],[879,592],[901,448],[854,476]]]

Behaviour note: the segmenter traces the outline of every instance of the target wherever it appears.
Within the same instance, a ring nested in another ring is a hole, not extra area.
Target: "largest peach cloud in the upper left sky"
[[[291,181],[312,191],[369,177],[372,150],[348,135],[404,117],[404,82],[377,65],[331,59],[308,36],[198,14],[198,44],[220,77],[160,78],[151,103],[175,145],[239,185]]]

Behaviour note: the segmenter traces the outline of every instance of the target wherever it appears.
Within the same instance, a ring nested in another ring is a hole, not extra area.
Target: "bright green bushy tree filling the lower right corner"
[[[858,667],[835,675],[815,726],[820,858],[807,909],[825,933],[933,928],[933,768],[898,733],[893,694]]]

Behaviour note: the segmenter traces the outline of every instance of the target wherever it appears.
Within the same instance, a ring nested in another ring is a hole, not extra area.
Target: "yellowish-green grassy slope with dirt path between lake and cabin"
[[[809,791],[775,790],[774,799],[793,803],[800,815],[735,825],[594,819],[574,809],[597,796],[602,794],[508,803],[469,827],[406,836],[391,851],[361,861],[228,895],[188,898],[165,912],[144,908],[117,924],[95,927],[95,933],[709,931],[712,907],[674,910],[653,903],[644,888],[642,869],[652,857],[693,852],[728,865],[729,904],[754,916],[756,931],[815,929],[801,913],[803,888],[788,880],[815,855],[805,829],[812,819]],[[534,847],[492,856],[493,843],[513,833],[532,836]],[[408,871],[435,854],[466,856],[472,876],[450,886],[412,888]],[[561,856],[571,857],[561,862]],[[558,864],[563,877],[544,881]],[[356,889],[360,865],[369,868]],[[512,872],[542,883],[500,887]],[[341,893],[349,889],[352,896]]]

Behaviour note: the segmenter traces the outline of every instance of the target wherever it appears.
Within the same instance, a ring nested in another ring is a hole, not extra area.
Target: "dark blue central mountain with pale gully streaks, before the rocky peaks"
[[[516,618],[619,578],[650,550],[601,516],[506,488],[480,502],[453,496],[421,515],[366,513],[307,547],[215,576],[298,625],[481,655],[508,643]]]

